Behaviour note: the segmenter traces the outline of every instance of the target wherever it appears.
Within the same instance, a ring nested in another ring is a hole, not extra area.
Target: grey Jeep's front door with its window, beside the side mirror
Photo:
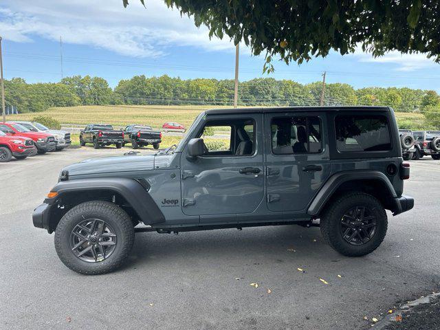
[[[262,115],[210,115],[191,138],[202,137],[206,151],[197,159],[181,155],[182,210],[201,223],[235,221],[264,198]]]

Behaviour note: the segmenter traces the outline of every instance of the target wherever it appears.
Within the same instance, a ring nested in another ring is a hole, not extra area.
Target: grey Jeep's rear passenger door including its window
[[[300,212],[331,173],[324,113],[266,113],[267,208]]]

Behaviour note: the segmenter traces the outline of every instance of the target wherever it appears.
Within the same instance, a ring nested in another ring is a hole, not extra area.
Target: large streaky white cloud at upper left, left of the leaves
[[[169,47],[195,46],[208,51],[234,50],[228,38],[208,37],[162,0],[147,0],[146,9],[132,0],[5,0],[0,6],[0,31],[4,39],[31,42],[33,36],[65,43],[91,45],[133,57],[157,57]]]

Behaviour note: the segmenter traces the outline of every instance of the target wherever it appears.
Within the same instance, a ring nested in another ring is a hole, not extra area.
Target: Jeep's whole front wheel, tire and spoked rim
[[[80,274],[112,272],[126,261],[133,242],[129,215],[109,201],[87,201],[75,206],[55,230],[58,257]]]

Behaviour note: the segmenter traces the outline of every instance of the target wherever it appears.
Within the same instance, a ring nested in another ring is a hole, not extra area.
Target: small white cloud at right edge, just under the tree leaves
[[[362,50],[355,52],[354,56],[364,63],[386,63],[394,65],[394,71],[413,72],[418,69],[432,67],[438,69],[439,65],[423,54],[401,54],[400,52],[388,52],[384,56],[374,58],[369,53],[362,53]]]

